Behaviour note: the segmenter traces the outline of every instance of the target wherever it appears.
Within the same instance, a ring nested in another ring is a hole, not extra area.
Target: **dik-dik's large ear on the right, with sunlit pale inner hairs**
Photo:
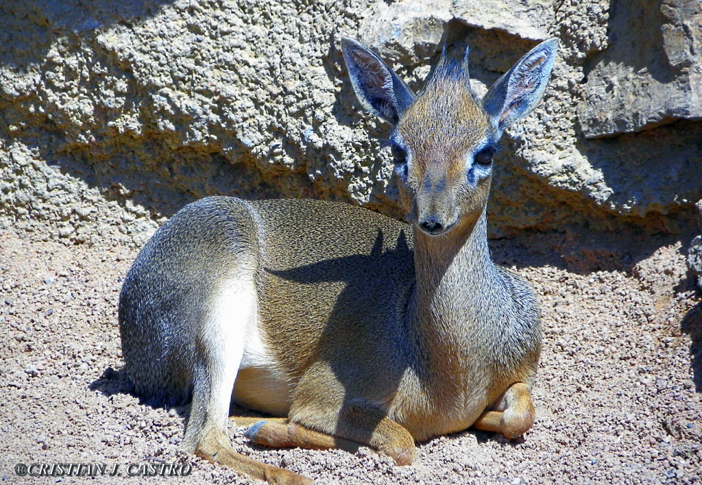
[[[557,49],[557,39],[538,44],[495,81],[486,93],[482,101],[483,109],[499,132],[526,117],[541,101]]]

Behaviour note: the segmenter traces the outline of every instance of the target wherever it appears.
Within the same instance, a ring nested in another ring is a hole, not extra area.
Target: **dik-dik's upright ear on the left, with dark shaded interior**
[[[378,55],[358,41],[343,37],[341,52],[361,105],[377,117],[397,124],[402,112],[414,100],[409,86]]]

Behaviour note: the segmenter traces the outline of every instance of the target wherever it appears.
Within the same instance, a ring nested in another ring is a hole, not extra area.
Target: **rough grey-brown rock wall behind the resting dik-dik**
[[[0,220],[39,239],[143,241],[208,194],[350,201],[402,217],[388,127],[339,51],[418,90],[470,44],[486,90],[560,40],[541,106],[503,138],[491,234],[681,232],[702,199],[696,1],[26,0],[0,6]],[[642,28],[645,26],[645,28]],[[114,229],[117,228],[117,232]]]

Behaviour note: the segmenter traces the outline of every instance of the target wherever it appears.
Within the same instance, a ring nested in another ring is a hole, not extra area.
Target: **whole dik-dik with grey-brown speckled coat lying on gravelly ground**
[[[274,483],[309,479],[235,453],[227,422],[267,446],[357,449],[412,462],[415,441],[534,423],[534,292],[494,265],[492,159],[543,95],[557,49],[524,55],[482,100],[442,56],[415,95],[357,41],[349,77],[390,143],[409,224],[314,200],[209,197],[137,256],[119,300],[126,371],[156,406],[192,399],[192,453]],[[278,418],[230,418],[231,401]]]

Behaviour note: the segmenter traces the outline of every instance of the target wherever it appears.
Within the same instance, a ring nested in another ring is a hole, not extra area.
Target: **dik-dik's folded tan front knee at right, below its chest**
[[[525,383],[508,387],[491,411],[486,411],[473,423],[478,430],[502,433],[508,439],[516,439],[534,425],[534,404],[531,392]]]

